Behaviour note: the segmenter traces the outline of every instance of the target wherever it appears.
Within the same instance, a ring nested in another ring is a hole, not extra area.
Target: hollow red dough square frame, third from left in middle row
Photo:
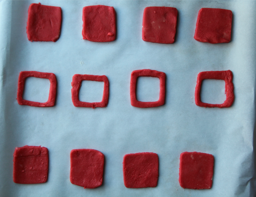
[[[154,102],[142,102],[136,99],[136,82],[140,76],[144,77],[158,77],[160,79],[160,94],[158,101]],[[136,70],[131,73],[131,84],[130,84],[130,96],[131,105],[134,107],[158,107],[165,104],[165,73],[150,69]]]

